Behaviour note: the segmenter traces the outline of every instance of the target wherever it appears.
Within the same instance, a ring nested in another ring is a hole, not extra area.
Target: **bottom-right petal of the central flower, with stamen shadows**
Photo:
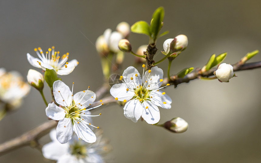
[[[148,124],[155,124],[158,123],[160,120],[160,111],[158,106],[153,105],[150,101],[144,101],[143,105],[143,113],[141,117],[148,123]],[[148,107],[146,109],[146,107]]]

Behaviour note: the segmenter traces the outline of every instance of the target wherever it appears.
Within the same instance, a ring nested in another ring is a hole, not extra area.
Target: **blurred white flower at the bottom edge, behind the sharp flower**
[[[101,132],[96,134],[97,141],[92,144],[79,140],[76,135],[67,143],[61,144],[56,139],[56,130],[53,129],[50,132],[52,141],[42,147],[42,154],[57,163],[104,163],[102,155],[109,151],[108,142],[101,139]]]

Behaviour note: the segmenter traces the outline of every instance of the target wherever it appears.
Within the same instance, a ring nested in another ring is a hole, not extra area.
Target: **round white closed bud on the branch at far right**
[[[222,63],[218,66],[218,69],[214,72],[214,75],[220,82],[229,82],[229,79],[234,76],[233,66]]]

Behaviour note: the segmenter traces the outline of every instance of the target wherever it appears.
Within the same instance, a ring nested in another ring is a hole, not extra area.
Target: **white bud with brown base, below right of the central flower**
[[[188,122],[179,117],[166,121],[162,126],[175,133],[182,133],[188,130]]]

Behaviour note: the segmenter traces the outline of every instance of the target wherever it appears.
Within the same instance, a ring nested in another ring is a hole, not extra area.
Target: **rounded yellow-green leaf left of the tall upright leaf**
[[[151,36],[150,26],[145,21],[139,21],[134,23],[134,25],[131,26],[131,32]]]

